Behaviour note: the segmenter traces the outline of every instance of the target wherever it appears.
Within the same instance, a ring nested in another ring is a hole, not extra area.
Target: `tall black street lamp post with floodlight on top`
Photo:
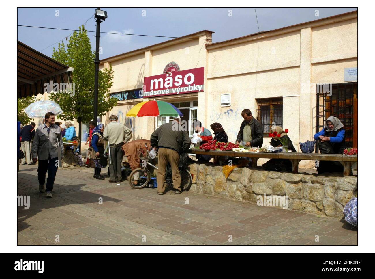
[[[95,10],[96,19],[96,47],[95,47],[95,85],[94,85],[94,122],[98,124],[98,83],[99,83],[99,41],[100,41],[100,24],[107,18],[107,12],[101,11],[100,8]]]

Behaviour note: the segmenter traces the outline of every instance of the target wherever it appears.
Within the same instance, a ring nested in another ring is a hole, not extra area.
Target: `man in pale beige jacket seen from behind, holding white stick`
[[[122,158],[123,150],[121,146],[127,143],[132,137],[132,130],[125,127],[123,124],[117,122],[117,116],[110,116],[110,123],[104,128],[103,138],[108,141],[110,145],[110,175],[111,179],[109,182],[121,182],[122,181]]]

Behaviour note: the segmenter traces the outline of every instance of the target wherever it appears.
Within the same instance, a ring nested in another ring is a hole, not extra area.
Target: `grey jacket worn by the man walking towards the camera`
[[[51,155],[51,158],[57,158],[57,148],[59,145],[61,146],[61,157],[63,157],[64,145],[60,127],[53,124],[49,129],[48,137],[47,128],[42,124],[35,130],[31,156],[38,158],[38,160],[48,160],[48,155]]]

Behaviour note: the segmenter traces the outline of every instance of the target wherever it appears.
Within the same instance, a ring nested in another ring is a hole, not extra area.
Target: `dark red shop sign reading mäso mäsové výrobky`
[[[203,91],[204,67],[144,78],[143,98]]]

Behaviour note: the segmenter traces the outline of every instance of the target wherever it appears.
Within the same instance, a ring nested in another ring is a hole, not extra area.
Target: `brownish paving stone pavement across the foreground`
[[[18,206],[18,245],[357,245],[357,228],[337,218],[108,179],[59,168],[46,199],[37,165],[20,165],[17,195],[30,208]]]

